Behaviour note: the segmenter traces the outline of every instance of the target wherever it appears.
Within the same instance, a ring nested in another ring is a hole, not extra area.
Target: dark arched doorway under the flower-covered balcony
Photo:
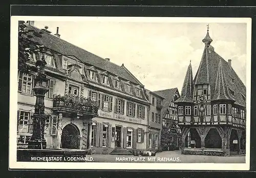
[[[80,146],[80,131],[78,127],[73,124],[67,124],[61,133],[61,148],[79,149]]]

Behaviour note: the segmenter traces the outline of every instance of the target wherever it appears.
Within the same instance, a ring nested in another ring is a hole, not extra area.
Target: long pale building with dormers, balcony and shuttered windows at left
[[[32,135],[35,61],[44,55],[49,79],[45,97],[45,111],[50,115],[45,128],[47,148],[93,148],[99,154],[108,154],[114,148],[145,149],[150,102],[134,75],[124,65],[62,40],[58,28],[52,35],[47,29],[26,25],[26,30],[42,33],[31,40],[48,50],[31,54],[31,70],[18,72],[18,147],[26,147]],[[79,112],[68,105],[71,96],[92,98],[98,103],[92,122],[83,122]]]

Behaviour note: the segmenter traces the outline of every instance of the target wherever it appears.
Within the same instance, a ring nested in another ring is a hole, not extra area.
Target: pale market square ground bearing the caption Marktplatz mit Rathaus
[[[202,155],[181,155],[180,150],[163,151],[155,157],[133,155],[90,155],[93,162],[125,162],[125,163],[245,163],[245,156],[218,157]]]

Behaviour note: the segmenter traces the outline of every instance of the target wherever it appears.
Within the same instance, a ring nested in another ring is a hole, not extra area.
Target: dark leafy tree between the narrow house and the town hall
[[[177,124],[172,124],[172,126],[162,126],[161,131],[161,148],[162,150],[173,150],[177,146],[176,139],[180,140],[181,134],[179,132],[179,127]]]

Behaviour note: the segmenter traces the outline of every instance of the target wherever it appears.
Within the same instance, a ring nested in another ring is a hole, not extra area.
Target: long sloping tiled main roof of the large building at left
[[[37,29],[33,26],[28,25],[26,30],[35,30],[37,32],[40,31],[40,29]],[[107,61],[99,56],[96,56],[87,50],[84,50],[80,47],[77,47],[63,39],[60,39],[54,35],[51,35],[49,33],[43,33],[41,34],[42,37],[36,37],[33,36],[31,40],[34,40],[41,45],[44,45],[52,50],[55,50],[55,52],[60,53],[62,55],[69,55],[69,56],[75,56],[78,58],[81,62],[98,67],[102,70],[111,72],[120,78],[123,78],[127,81],[131,81],[135,83],[136,85],[142,85],[134,76],[133,74],[127,70],[124,66],[116,65],[110,61]]]

